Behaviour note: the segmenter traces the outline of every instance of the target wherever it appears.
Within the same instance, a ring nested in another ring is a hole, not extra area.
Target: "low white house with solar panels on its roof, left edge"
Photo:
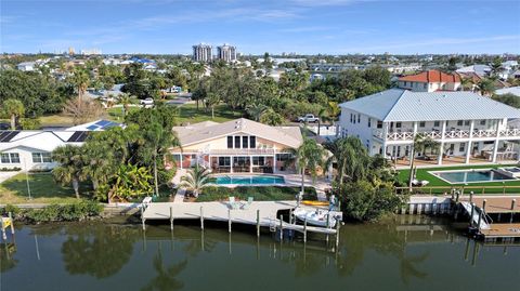
[[[0,131],[0,168],[23,171],[49,170],[56,166],[52,151],[64,145],[81,146],[92,131],[103,131],[121,124],[98,120],[65,130]]]

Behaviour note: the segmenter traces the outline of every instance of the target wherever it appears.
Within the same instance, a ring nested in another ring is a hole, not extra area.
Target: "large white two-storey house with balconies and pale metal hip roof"
[[[520,129],[508,122],[520,110],[472,92],[391,89],[340,107],[340,135],[359,137],[370,155],[410,160],[414,137],[422,134],[440,143],[438,164],[519,158]]]

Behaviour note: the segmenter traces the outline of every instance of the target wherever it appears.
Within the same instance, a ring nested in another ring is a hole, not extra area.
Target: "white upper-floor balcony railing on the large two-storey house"
[[[441,140],[441,131],[426,131],[417,132],[425,137],[433,140]],[[385,140],[385,133],[382,130],[374,130],[373,135],[377,138]],[[473,130],[472,135],[469,130],[451,130],[444,133],[444,140],[460,140],[460,138],[482,138],[482,137],[520,137],[520,129],[507,129],[507,130]],[[389,132],[386,136],[387,141],[413,141],[414,133],[412,131],[403,132]]]

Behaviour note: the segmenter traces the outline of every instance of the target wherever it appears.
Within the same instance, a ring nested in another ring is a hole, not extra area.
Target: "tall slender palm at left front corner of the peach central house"
[[[144,133],[144,138],[147,143],[146,155],[152,158],[154,163],[154,185],[155,195],[159,195],[159,185],[157,177],[157,159],[159,156],[167,154],[169,147],[180,146],[179,138],[171,129],[165,129],[162,124],[157,121],[153,121],[147,131]]]

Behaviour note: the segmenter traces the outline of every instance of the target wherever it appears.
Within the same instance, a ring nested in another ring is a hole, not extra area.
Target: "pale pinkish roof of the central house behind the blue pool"
[[[249,119],[239,118],[223,123],[206,121],[187,127],[174,127],[182,146],[193,145],[235,133],[256,135],[269,141],[298,147],[302,143],[299,127],[270,127]]]

